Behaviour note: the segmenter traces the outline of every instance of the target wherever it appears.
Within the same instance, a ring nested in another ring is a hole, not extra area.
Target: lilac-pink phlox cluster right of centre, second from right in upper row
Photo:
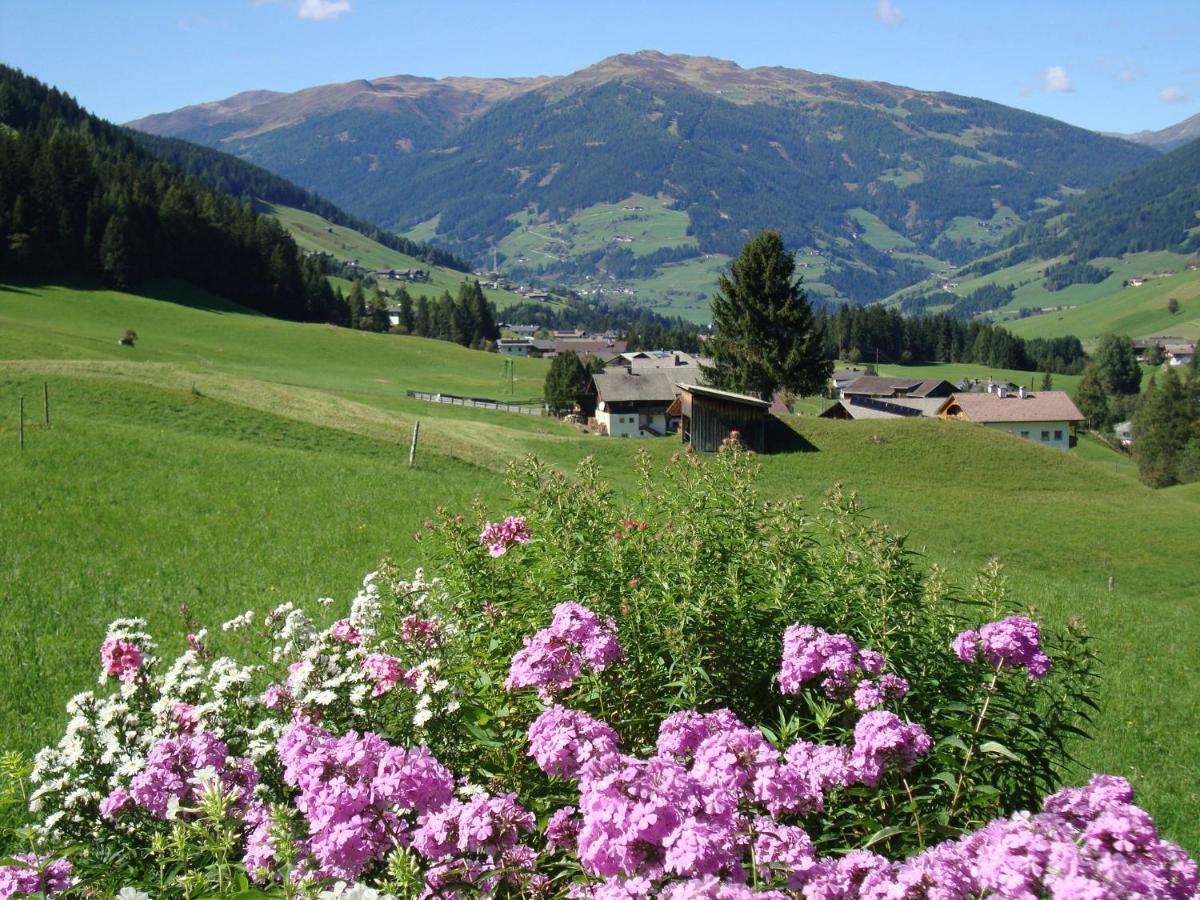
[[[815,625],[790,625],[784,632],[779,690],[799,694],[805,682],[823,676],[821,689],[830,700],[853,696],[859,709],[875,709],[887,697],[908,692],[904,678],[882,674],[883,665],[883,654],[859,649],[850,635],[832,635]]]

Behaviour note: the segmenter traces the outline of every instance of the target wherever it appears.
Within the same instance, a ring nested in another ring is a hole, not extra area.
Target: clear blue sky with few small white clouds
[[[118,122],[244,90],[566,74],[656,49],[1134,132],[1200,113],[1198,12],[1196,0],[0,0],[0,61]]]

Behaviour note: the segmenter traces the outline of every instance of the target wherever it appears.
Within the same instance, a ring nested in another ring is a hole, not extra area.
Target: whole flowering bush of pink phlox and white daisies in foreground
[[[1080,629],[839,490],[763,502],[737,443],[641,464],[618,499],[530,461],[518,512],[427,523],[428,575],[226,623],[253,664],[114,623],[0,900],[1196,895],[1127,782],[1061,786]]]

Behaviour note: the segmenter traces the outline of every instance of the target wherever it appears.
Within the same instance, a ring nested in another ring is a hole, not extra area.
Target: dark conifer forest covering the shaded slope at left
[[[269,316],[349,323],[323,264],[288,233],[61,91],[0,66],[0,271],[174,277]]]

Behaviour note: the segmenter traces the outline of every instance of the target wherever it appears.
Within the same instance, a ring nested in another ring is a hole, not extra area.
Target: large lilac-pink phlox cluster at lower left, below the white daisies
[[[371,732],[332,737],[295,722],[278,742],[283,780],[296,787],[307,847],[322,875],[355,878],[407,846],[415,822],[451,799],[454,778],[426,748],[404,749]]]

